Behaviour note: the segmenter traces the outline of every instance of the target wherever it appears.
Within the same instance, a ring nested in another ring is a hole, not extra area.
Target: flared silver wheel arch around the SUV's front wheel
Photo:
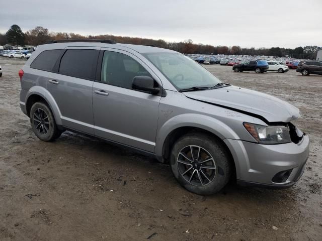
[[[169,119],[158,128],[155,140],[155,154],[162,157],[163,145],[168,135],[181,127],[195,127],[211,132],[220,139],[238,139],[238,135],[223,122],[210,116],[187,113],[180,114]]]

